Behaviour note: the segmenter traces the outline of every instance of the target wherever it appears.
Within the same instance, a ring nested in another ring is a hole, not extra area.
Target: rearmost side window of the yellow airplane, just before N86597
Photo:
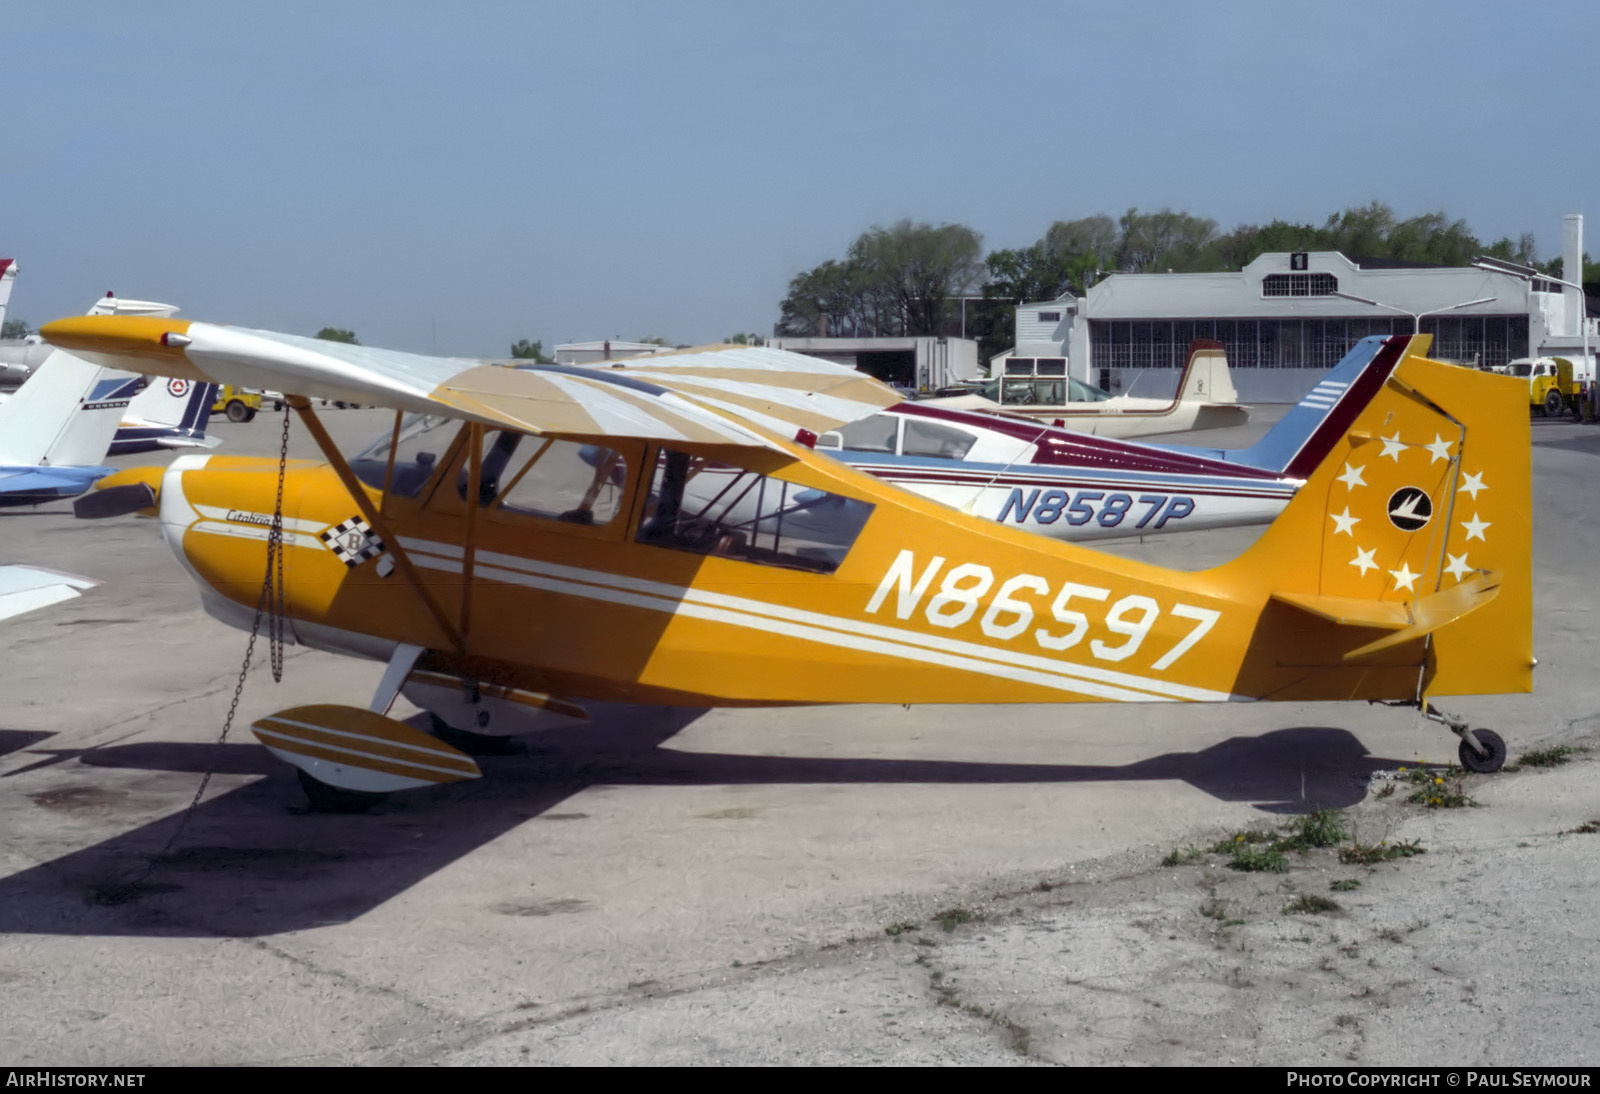
[[[830,574],[870,515],[854,497],[662,449],[638,542]]]

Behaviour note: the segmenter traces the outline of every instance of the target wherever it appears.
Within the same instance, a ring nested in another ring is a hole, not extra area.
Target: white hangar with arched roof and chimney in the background
[[[1563,243],[1563,280],[1578,281],[1582,218],[1566,218]],[[1440,360],[1491,366],[1544,353],[1582,373],[1582,310],[1578,289],[1512,274],[1275,253],[1224,274],[1112,274],[1083,297],[1022,304],[1008,355],[1067,357],[1078,379],[1170,395],[1190,339],[1214,337],[1242,401],[1294,401],[1362,337],[1418,328]],[[1586,321],[1592,369],[1600,331]]]

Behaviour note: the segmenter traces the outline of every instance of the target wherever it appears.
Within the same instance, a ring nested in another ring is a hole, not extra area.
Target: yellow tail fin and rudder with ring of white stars
[[[1416,697],[1531,688],[1526,384],[1427,360],[1430,342],[1384,339],[1394,366],[1322,465],[1254,547],[1213,571],[1270,574],[1246,694],[1293,697],[1283,681],[1312,678],[1326,689],[1325,670],[1352,673],[1350,694],[1374,673],[1413,681]]]

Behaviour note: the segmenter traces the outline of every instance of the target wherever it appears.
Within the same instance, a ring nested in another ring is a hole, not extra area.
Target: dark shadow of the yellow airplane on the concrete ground
[[[251,937],[347,923],[597,785],[1181,781],[1267,813],[1306,813],[1354,805],[1373,771],[1402,763],[1326,726],[1120,766],[701,753],[662,745],[702,712],[618,712],[626,713],[597,712],[589,728],[533,737],[526,753],[483,758],[482,781],[397,795],[360,816],[304,813],[293,771],[256,744],[56,753],[86,766],[266,777],[208,798],[187,822],[173,814],[0,880],[0,932]]]

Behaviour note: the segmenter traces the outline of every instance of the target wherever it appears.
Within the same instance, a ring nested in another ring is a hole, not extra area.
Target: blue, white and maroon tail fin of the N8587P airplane
[[[1162,445],[1181,453],[1306,478],[1333,451],[1350,422],[1384,387],[1405,355],[1408,337],[1363,337],[1266,437],[1250,448]]]

